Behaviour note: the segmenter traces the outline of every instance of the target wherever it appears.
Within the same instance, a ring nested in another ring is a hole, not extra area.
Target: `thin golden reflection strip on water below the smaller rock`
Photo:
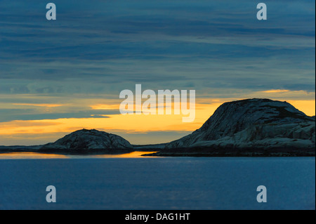
[[[46,154],[39,152],[0,153],[0,159],[84,159],[84,158],[140,158],[154,152],[129,152],[125,154]]]

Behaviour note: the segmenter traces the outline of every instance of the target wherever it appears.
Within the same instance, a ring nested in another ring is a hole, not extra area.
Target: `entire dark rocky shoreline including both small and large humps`
[[[315,116],[287,102],[237,100],[220,105],[200,129],[171,143],[131,145],[112,133],[82,129],[55,143],[0,147],[0,152],[126,153],[147,156],[276,157],[315,156]]]

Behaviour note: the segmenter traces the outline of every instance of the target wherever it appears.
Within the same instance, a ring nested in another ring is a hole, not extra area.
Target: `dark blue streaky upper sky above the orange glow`
[[[265,1],[267,21],[254,1],[47,3],[1,0],[0,93],[315,90],[315,1]]]

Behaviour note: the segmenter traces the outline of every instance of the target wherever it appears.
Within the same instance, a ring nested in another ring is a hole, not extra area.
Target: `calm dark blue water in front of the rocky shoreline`
[[[315,209],[315,157],[27,156],[0,155],[0,209]]]

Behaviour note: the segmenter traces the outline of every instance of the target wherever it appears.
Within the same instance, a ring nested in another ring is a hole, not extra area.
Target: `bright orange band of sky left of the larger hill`
[[[29,133],[72,132],[79,129],[104,131],[148,132],[148,131],[194,131],[209,119],[221,103],[197,104],[195,121],[183,123],[183,114],[109,114],[105,118],[43,119],[2,122],[0,135]]]

